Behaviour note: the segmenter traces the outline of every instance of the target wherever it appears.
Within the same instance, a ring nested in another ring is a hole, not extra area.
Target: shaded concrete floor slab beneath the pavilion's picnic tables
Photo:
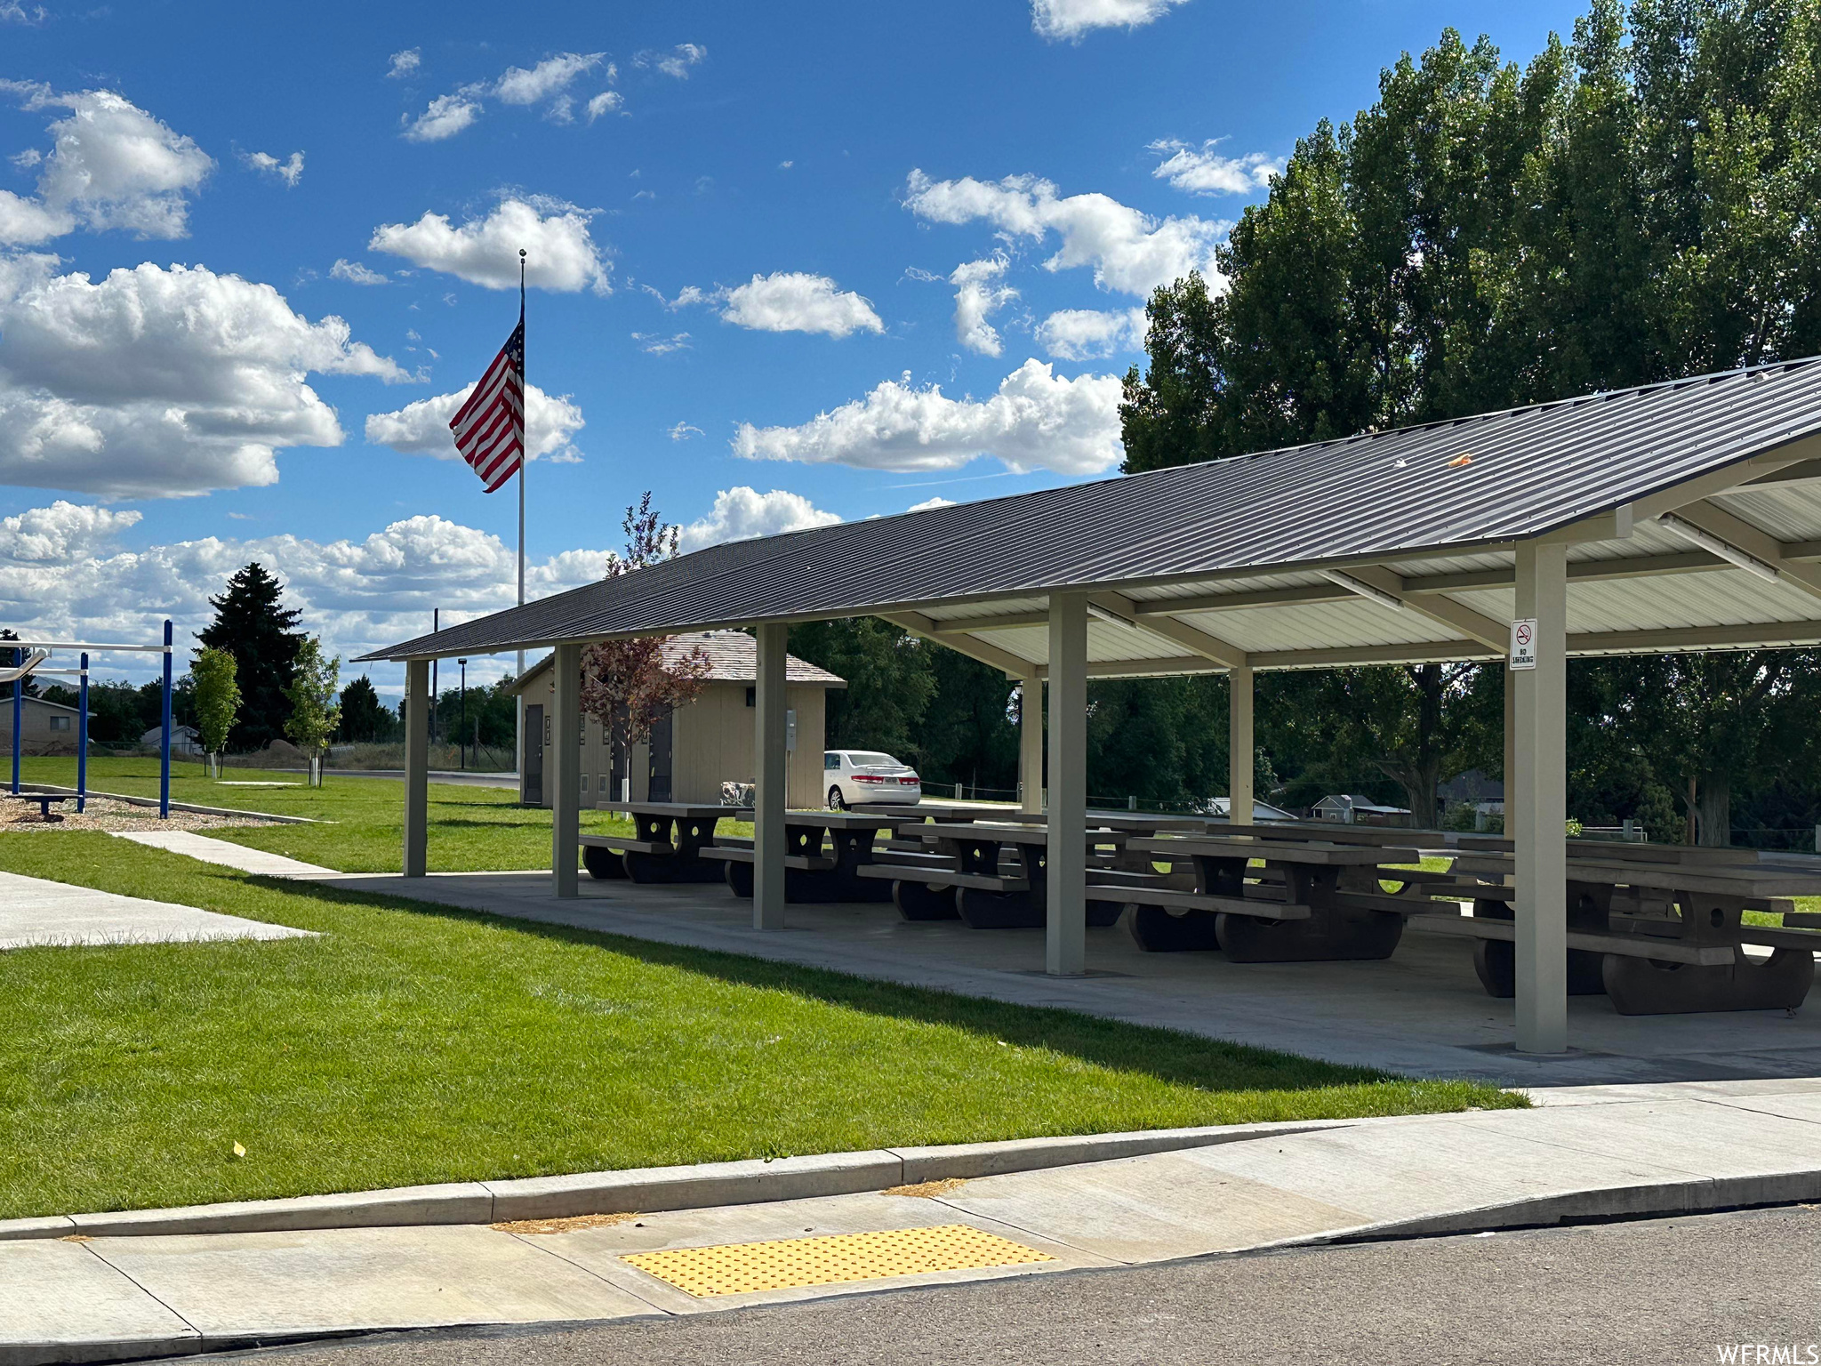
[[[1470,942],[1435,934],[1406,934],[1389,960],[1375,963],[1231,963],[1220,953],[1142,953],[1118,925],[1087,931],[1087,976],[1051,978],[1042,971],[1042,931],[912,923],[890,903],[792,905],[787,929],[759,933],[752,929],[752,902],[719,883],[654,887],[583,876],[581,896],[561,902],[550,892],[548,872],[331,874],[311,882],[1054,1005],[1422,1076],[1526,1087],[1821,1076],[1821,1004],[1796,1014],[1628,1018],[1604,996],[1570,996],[1573,1051],[1561,1058],[1517,1055],[1511,1004],[1484,993]]]

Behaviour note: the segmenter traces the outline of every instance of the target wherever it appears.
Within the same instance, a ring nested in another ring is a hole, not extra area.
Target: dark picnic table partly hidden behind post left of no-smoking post
[[[1093,821],[1089,821],[1093,823]],[[861,878],[892,883],[905,920],[954,920],[972,929],[1040,929],[1049,918],[1049,831],[1042,823],[901,823],[920,849],[892,849],[860,869]],[[1091,861],[1111,865],[1125,847],[1120,831],[1082,831]],[[1087,923],[1113,925],[1124,902],[1093,898]]]

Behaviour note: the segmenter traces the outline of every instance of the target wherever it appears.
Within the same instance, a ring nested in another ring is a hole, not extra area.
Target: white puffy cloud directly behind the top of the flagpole
[[[557,293],[612,293],[608,262],[588,233],[586,209],[555,200],[504,199],[484,219],[461,228],[441,213],[373,229],[368,250],[402,257],[413,266],[453,275],[488,290],[519,288],[519,251],[528,284]]]

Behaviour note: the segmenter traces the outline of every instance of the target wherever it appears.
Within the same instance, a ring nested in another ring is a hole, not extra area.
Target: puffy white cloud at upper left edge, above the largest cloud
[[[38,199],[0,202],[0,240],[44,242],[78,226],[166,239],[189,233],[188,197],[215,169],[191,138],[115,91],[58,93],[16,80],[0,80],[0,91],[20,97],[29,111],[69,111],[51,122],[51,151],[33,162],[42,168]]]

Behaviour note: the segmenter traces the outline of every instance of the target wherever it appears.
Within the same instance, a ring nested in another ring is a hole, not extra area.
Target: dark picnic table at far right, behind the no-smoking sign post
[[[1455,889],[1473,900],[1473,914],[1417,912],[1409,925],[1473,938],[1473,965],[1486,991],[1511,996],[1511,860],[1464,854],[1453,872]],[[1468,882],[1475,876],[1499,882]],[[1814,984],[1821,918],[1799,916],[1788,898],[1816,892],[1821,860],[1810,856],[1572,841],[1568,989],[1604,993],[1621,1014],[1796,1009]],[[1783,925],[1748,925],[1746,911],[1781,912]],[[1772,953],[1757,958],[1748,945]]]

